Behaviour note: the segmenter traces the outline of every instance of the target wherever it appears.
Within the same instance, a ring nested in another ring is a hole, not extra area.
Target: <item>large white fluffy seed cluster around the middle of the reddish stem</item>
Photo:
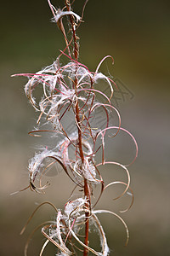
[[[68,56],[69,57],[69,56]],[[101,64],[101,63],[100,63]],[[97,67],[97,71],[99,67]],[[105,96],[103,92],[95,89],[98,86],[98,82],[101,79],[105,79],[108,86],[111,88],[111,96],[113,89],[111,86],[111,79],[105,77],[102,73],[94,73],[88,70],[88,67],[82,65],[77,61],[71,61],[65,66],[59,65],[57,59],[54,63],[48,67],[42,69],[37,73],[20,74],[29,77],[26,84],[25,91],[31,105],[40,112],[37,119],[37,124],[49,126],[46,131],[51,131],[53,134],[58,135],[58,141],[54,148],[43,148],[40,153],[37,153],[30,161],[30,181],[31,188],[37,191],[41,190],[41,186],[36,188],[34,184],[36,179],[42,177],[42,173],[48,171],[48,167],[44,166],[45,159],[54,159],[64,168],[65,172],[71,177],[75,183],[82,186],[82,180],[85,177],[89,183],[100,183],[101,180],[96,178],[97,167],[95,166],[95,152],[99,148],[105,147],[105,131],[109,128],[109,112],[112,109],[111,101],[108,96]],[[77,81],[77,87],[75,87],[75,80]],[[42,87],[42,96],[37,102],[34,96],[34,91],[37,86]],[[98,102],[96,94],[102,94],[105,96],[106,103]],[[80,108],[80,122],[77,123],[76,119],[76,106],[77,103]],[[95,111],[99,108],[105,110],[105,131],[102,131],[100,127],[93,127],[93,119]],[[74,117],[73,124],[75,130],[69,134],[65,129],[65,116],[71,115]],[[119,124],[121,125],[121,119],[118,111]],[[52,129],[51,129],[51,128]],[[80,158],[78,153],[78,134],[77,128],[82,132],[82,146],[84,154],[84,162]],[[38,132],[42,132],[38,128],[35,131],[31,131],[32,135],[36,136]],[[101,144],[96,148],[97,139],[101,140]],[[71,150],[70,150],[71,148]],[[72,159],[70,156],[74,155]],[[44,186],[42,187],[44,189]]]

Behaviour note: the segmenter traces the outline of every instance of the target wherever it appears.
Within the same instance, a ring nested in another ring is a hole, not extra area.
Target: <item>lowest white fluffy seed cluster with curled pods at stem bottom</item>
[[[87,202],[88,200],[82,198],[77,198],[75,201],[68,201],[65,205],[65,213],[63,214],[61,211],[58,211],[54,224],[46,225],[42,228],[42,234],[47,238],[47,241],[45,241],[40,255],[42,255],[48,241],[52,241],[54,245],[59,248],[60,252],[57,253],[56,256],[72,255],[73,253],[68,248],[68,245],[73,246],[72,237],[74,237],[82,247],[86,247],[88,251],[94,253],[94,255],[108,255],[109,247],[107,245],[105,232],[96,215],[102,213],[102,210],[96,212],[91,211],[89,217],[90,224],[95,227],[95,230],[97,230],[99,234],[102,251],[97,252],[92,247],[86,246],[79,238],[82,226],[84,225],[84,212],[89,211],[88,208],[84,207]],[[67,247],[65,246],[66,243]]]

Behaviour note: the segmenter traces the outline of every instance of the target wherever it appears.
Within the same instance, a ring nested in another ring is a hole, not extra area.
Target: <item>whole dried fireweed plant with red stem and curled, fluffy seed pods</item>
[[[47,238],[39,255],[42,255],[49,241],[57,247],[56,255],[58,256],[80,254],[86,256],[90,252],[94,255],[109,255],[110,250],[105,232],[99,222],[99,213],[111,214],[121,220],[127,233],[127,241],[129,238],[127,224],[119,215],[115,212],[95,209],[105,189],[115,184],[124,186],[122,194],[117,196],[116,199],[121,198],[126,193],[132,195],[130,207],[132,206],[133,191],[129,187],[130,175],[127,166],[131,165],[136,159],[138,146],[133,135],[121,127],[121,116],[117,109],[111,105],[113,88],[116,84],[111,78],[99,72],[99,68],[105,59],[110,58],[113,61],[111,55],[105,56],[94,72],[91,72],[87,66],[78,61],[79,38],[77,37],[77,28],[82,22],[87,2],[85,1],[83,5],[82,15],[77,15],[72,10],[70,0],[65,0],[63,9],[55,9],[48,0],[49,7],[54,15],[53,21],[65,38],[65,49],[60,51],[54,63],[42,68],[37,73],[14,74],[14,76],[25,76],[29,79],[25,87],[26,96],[32,107],[40,113],[37,119],[37,128],[29,132],[30,135],[40,137],[46,133],[48,134],[48,140],[51,139],[54,143],[54,148],[44,146],[30,160],[28,166],[29,186],[27,188],[38,193],[44,193],[44,189],[48,187],[49,183],[42,184],[42,177],[47,174],[51,166],[56,164],[61,166],[67,177],[71,178],[74,183],[71,196],[65,202],[64,210],[59,210],[50,202],[44,202],[37,207],[38,209],[42,205],[48,204],[54,207],[56,212],[54,221],[48,221],[35,229],[41,227],[42,235]],[[62,65],[61,59],[64,56],[67,62]],[[110,96],[99,90],[99,83],[102,80],[105,81],[105,86],[110,87]],[[42,95],[38,96],[40,98],[38,101],[34,93],[39,86],[42,88]],[[99,102],[98,95],[105,98],[105,101]],[[105,125],[102,127],[94,125],[94,117],[99,109],[103,110],[101,119],[104,119]],[[117,125],[110,124],[111,112],[117,116]],[[64,121],[65,116],[74,119],[74,131],[67,131]],[[42,127],[45,127],[45,129],[42,129]],[[105,160],[105,148],[107,148],[105,137],[110,137],[110,140],[114,139],[119,131],[124,131],[127,136],[132,137],[136,148],[135,157],[127,166]],[[100,155],[100,160],[97,160],[97,154]],[[99,169],[105,168],[106,165],[121,167],[127,175],[127,182],[112,181],[105,184]],[[94,197],[94,189],[98,186],[100,188],[99,195]],[[76,190],[77,193],[75,193]],[[130,207],[122,212],[126,212]],[[26,230],[27,224],[34,213],[37,212],[37,209],[31,214],[21,234]],[[99,235],[100,252],[91,247],[90,241],[88,241],[89,234],[94,229],[94,236],[96,236],[96,233]],[[27,247],[31,236],[26,243],[25,255],[27,255]]]

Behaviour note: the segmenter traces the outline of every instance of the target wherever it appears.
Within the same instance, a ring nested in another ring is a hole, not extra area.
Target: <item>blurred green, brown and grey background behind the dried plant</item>
[[[53,3],[63,7],[63,1]],[[81,14],[82,3],[82,0],[75,1],[77,14]],[[36,205],[52,201],[57,207],[64,207],[72,187],[61,172],[52,178],[46,195],[27,190],[10,195],[26,187],[27,162],[40,143],[27,135],[36,125],[36,114],[24,95],[26,79],[12,79],[10,75],[35,73],[49,65],[59,55],[59,49],[64,49],[64,40],[55,24],[49,21],[52,15],[45,0],[3,1],[0,12],[0,255],[20,256],[24,254],[26,237],[31,230],[47,218],[54,219],[53,209],[42,207],[26,234],[20,236]],[[122,114],[122,126],[131,131],[139,143],[139,157],[129,167],[134,204],[129,212],[121,214],[129,227],[130,241],[124,247],[122,224],[104,216],[102,223],[111,255],[170,255],[169,1],[89,0],[84,20],[78,31],[80,60],[94,71],[105,55],[112,55],[115,65],[112,67],[111,61],[105,61],[101,70],[108,74],[109,69],[134,95],[132,99],[127,95],[117,106]],[[127,160],[126,156],[131,159],[134,153],[131,143],[117,138],[117,143],[111,144],[109,157],[113,156],[113,160],[117,157],[122,163]],[[121,175],[105,170],[106,179],[126,181],[126,176]],[[116,193],[116,189],[110,192]],[[128,197],[120,202],[110,197],[105,195],[99,207],[118,213],[129,203]],[[36,234],[28,255],[38,255],[43,241],[44,238]],[[54,246],[48,245],[44,255],[49,254],[54,255]]]

